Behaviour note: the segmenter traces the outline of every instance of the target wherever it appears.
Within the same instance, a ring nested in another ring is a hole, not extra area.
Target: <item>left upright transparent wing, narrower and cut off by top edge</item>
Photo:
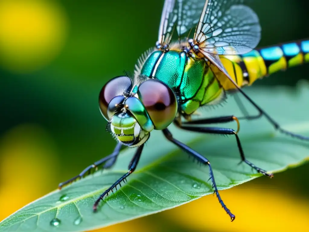
[[[160,28],[159,45],[169,44],[174,31],[179,41],[194,28],[201,16],[205,0],[165,0]]]

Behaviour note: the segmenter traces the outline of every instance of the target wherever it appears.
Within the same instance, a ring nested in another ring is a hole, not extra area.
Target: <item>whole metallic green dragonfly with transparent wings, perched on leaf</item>
[[[246,0],[165,0],[155,46],[138,59],[133,76],[112,78],[99,93],[99,109],[108,121],[106,128],[117,141],[113,153],[60,183],[59,189],[93,169],[110,168],[122,146],[136,147],[128,172],[94,202],[93,210],[97,211],[99,202],[134,172],[151,131],[161,130],[167,140],[209,167],[214,194],[234,221],[235,215],[219,194],[210,161],[177,140],[167,127],[174,123],[186,131],[234,136],[240,160],[256,172],[273,177],[246,159],[238,136],[239,121],[264,116],[277,131],[301,140],[309,137],[281,128],[243,87],[274,72],[309,62],[309,40],[255,49],[260,37],[258,16]],[[259,113],[193,119],[200,107],[219,104],[232,92],[242,94]],[[227,122],[236,122],[237,130],[209,126]]]

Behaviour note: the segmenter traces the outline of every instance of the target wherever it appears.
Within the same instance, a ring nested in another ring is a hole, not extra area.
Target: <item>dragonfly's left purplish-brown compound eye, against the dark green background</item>
[[[106,83],[99,94],[99,107],[102,115],[106,120],[109,120],[110,113],[108,114],[109,102],[117,96],[122,96],[124,92],[130,91],[132,82],[127,76],[118,76]],[[119,99],[119,98],[118,98]],[[118,102],[119,104],[121,102]],[[114,102],[115,105],[115,102]],[[111,107],[110,107],[111,108]],[[111,109],[110,109],[111,110]],[[110,111],[109,110],[109,111]]]

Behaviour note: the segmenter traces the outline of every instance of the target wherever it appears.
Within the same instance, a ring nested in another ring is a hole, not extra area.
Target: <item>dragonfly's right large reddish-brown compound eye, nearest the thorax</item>
[[[177,101],[167,84],[150,79],[138,87],[138,97],[144,104],[156,130],[165,129],[175,119]]]

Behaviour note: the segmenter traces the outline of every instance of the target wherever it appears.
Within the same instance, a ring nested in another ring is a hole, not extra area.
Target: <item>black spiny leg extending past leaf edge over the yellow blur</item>
[[[181,143],[180,141],[176,140],[173,138],[173,135],[171,134],[171,132],[168,129],[164,129],[163,130],[163,134],[165,135],[165,137],[171,141],[173,144],[176,144],[176,146],[178,146],[179,148],[181,148],[182,150],[184,150],[186,153],[188,153],[189,155],[192,155],[195,159],[197,159],[198,161],[200,161],[201,163],[208,165],[209,166],[209,170],[210,170],[210,179],[212,181],[212,187],[214,188],[214,193],[216,193],[216,196],[219,200],[219,203],[222,205],[222,208],[224,208],[225,212],[231,217],[231,221],[234,221],[235,219],[235,215],[231,213],[231,211],[226,207],[226,205],[223,203],[223,200],[221,199],[221,196],[219,194],[216,182],[214,180],[214,173],[212,170],[212,167],[210,165],[210,162],[208,159],[206,159],[204,156],[202,156],[201,154],[197,153],[196,151],[194,151],[192,148],[188,147],[187,145]]]

